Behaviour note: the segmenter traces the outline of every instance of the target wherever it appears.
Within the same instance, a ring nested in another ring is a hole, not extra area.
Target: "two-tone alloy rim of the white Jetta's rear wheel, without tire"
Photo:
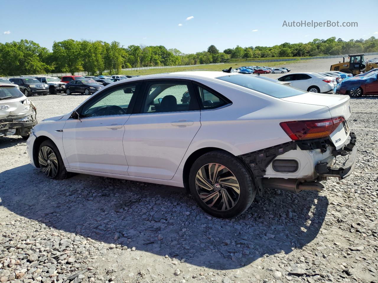
[[[228,211],[237,204],[240,185],[235,175],[219,163],[202,166],[195,177],[195,187],[200,199],[216,211]]]

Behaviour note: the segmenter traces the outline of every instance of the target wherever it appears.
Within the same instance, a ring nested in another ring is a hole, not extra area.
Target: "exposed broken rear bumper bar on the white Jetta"
[[[353,132],[349,134],[349,143],[342,149],[334,152],[334,156],[349,155],[348,158],[339,168],[328,166],[327,162],[318,163],[315,167],[315,171],[321,177],[338,177],[339,179],[345,179],[352,174],[353,169],[357,162],[357,147],[356,147],[356,135]]]

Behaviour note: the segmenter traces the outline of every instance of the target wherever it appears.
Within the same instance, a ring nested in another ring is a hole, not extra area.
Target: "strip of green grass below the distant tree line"
[[[271,67],[271,66],[284,66],[286,64],[293,64],[297,63],[300,60],[293,60],[293,61],[282,61],[282,62],[266,62],[263,63],[263,66]],[[254,65],[253,63],[246,64],[248,66]],[[143,70],[124,70],[121,71],[123,75],[151,75],[151,74],[160,74],[160,73],[171,73],[171,72],[180,72],[180,71],[222,71],[223,69],[228,69],[230,67],[237,68],[240,66],[245,66],[245,63],[238,62],[238,63],[225,63],[225,64],[218,64],[218,65],[201,65],[201,66],[189,66],[189,67],[174,67],[174,68],[159,68],[159,69],[143,69]]]

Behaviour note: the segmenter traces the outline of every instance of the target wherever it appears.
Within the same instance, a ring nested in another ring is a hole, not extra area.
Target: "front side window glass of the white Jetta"
[[[110,89],[91,99],[81,110],[83,117],[127,114],[136,85],[123,85]]]

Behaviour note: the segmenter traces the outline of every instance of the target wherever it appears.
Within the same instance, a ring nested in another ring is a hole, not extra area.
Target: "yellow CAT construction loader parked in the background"
[[[342,57],[342,62],[331,65],[330,71],[358,75],[361,71],[367,72],[373,68],[378,68],[378,64],[370,62],[366,64],[364,54],[349,54],[349,62],[345,62],[345,57]]]

